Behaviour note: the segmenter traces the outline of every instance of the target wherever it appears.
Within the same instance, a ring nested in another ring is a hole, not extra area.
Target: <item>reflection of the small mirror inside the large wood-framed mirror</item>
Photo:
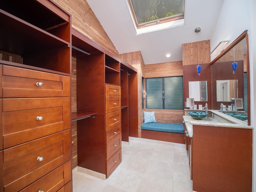
[[[237,98],[237,80],[216,80],[217,101],[231,102],[231,98]]]

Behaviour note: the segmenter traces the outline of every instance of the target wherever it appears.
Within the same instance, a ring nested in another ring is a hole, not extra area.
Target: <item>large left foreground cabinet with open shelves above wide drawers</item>
[[[71,192],[70,15],[0,3],[0,191]]]

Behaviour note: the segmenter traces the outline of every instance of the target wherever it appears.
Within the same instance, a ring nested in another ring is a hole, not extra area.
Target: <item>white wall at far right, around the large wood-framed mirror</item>
[[[256,0],[224,0],[210,39],[211,50],[219,42],[233,42],[245,30],[249,34],[251,125],[256,128]],[[213,59],[213,58],[212,58]],[[256,132],[253,131],[253,191],[256,192]]]

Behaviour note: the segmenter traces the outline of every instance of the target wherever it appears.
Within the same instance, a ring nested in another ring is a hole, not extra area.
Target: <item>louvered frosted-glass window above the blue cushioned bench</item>
[[[146,108],[183,110],[182,76],[147,78]]]

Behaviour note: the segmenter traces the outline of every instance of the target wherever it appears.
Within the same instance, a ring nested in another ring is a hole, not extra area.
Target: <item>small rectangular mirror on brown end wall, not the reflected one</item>
[[[207,101],[207,81],[188,82],[189,97],[194,101]]]

